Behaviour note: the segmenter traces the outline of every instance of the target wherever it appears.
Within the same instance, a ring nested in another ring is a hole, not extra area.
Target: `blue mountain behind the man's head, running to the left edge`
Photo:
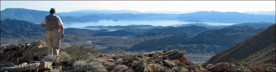
[[[40,11],[40,10],[30,10],[24,8],[6,8],[1,11],[1,20],[16,19],[24,20],[36,24],[40,24],[45,16],[49,15],[49,11]],[[58,14],[57,14],[58,15]],[[59,15],[58,15],[59,16]],[[72,16],[60,16],[62,22],[84,22],[89,20],[80,20]]]

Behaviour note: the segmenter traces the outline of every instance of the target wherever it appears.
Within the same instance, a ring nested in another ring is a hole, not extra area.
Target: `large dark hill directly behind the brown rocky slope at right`
[[[182,44],[207,44],[231,47],[244,39],[251,37],[264,29],[221,29],[205,31],[197,36],[185,40]]]

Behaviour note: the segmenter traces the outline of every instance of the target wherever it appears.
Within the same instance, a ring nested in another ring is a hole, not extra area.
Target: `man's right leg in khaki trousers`
[[[53,42],[52,42],[52,46],[53,46],[53,54],[58,56],[58,52],[60,50],[60,33],[59,31],[53,31],[52,32],[53,35]]]

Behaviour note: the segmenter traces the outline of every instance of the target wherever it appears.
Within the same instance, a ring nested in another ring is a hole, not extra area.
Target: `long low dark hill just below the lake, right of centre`
[[[188,34],[197,35],[197,34],[203,32],[203,31],[207,31],[207,30],[208,29],[204,26],[191,25],[191,26],[181,26],[181,27],[155,28],[155,29],[151,29],[149,31],[146,31],[144,34],[159,33],[159,32],[173,32],[173,33],[176,33],[176,34],[188,33]]]

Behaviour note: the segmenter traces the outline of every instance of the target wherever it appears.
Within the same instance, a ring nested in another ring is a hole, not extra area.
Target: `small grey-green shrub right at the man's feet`
[[[53,62],[53,65],[56,65],[58,64],[58,58],[57,58],[57,55],[47,55],[45,56],[43,59],[43,61],[46,61],[46,62]]]

